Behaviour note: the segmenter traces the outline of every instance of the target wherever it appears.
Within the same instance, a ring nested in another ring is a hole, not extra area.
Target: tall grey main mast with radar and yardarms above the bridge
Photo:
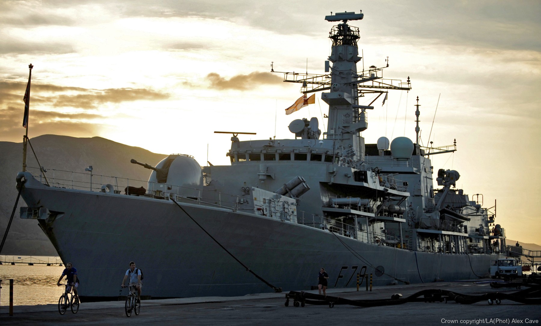
[[[364,158],[364,138],[359,132],[368,128],[366,110],[373,109],[372,103],[388,90],[411,90],[410,77],[404,83],[397,79],[383,79],[382,70],[372,65],[368,70],[357,72],[360,61],[357,41],[359,28],[349,26],[347,21],[360,20],[364,14],[355,12],[337,12],[326,16],[329,22],[340,22],[329,32],[332,40],[331,55],[325,62],[325,75],[283,72],[285,82],[302,83],[303,93],[329,90],[321,94],[321,99],[329,105],[327,139],[332,139],[334,151],[358,162]],[[329,64],[332,63],[332,66]],[[273,72],[274,66],[272,66]],[[377,95],[368,105],[359,105],[359,97]]]

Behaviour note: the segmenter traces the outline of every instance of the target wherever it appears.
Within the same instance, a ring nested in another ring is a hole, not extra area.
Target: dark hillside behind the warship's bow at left
[[[43,135],[31,138],[30,142],[39,163],[45,169],[84,172],[93,166],[95,175],[129,177],[148,180],[150,170],[130,163],[131,158],[155,165],[166,157],[148,150],[116,143],[101,137],[75,138],[68,136]],[[0,236],[4,235],[17,189],[15,177],[22,169],[22,143],[0,142]],[[27,155],[28,167],[38,167],[30,147]],[[36,170],[32,170],[36,171]],[[49,170],[48,177],[52,177]],[[97,179],[96,181],[98,181]],[[15,217],[4,245],[2,255],[57,255],[36,221],[19,218],[19,207],[25,206],[19,199]]]

